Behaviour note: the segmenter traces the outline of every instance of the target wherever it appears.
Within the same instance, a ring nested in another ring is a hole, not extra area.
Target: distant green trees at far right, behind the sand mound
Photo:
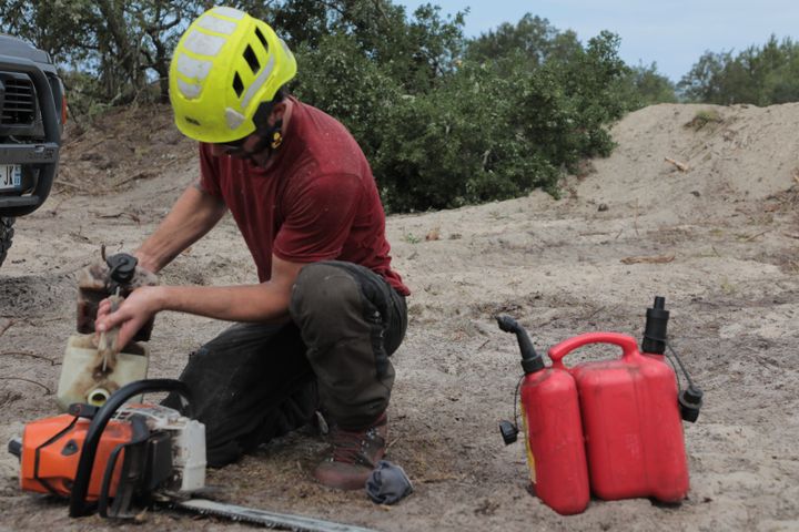
[[[799,101],[799,43],[778,41],[731,51],[705,52],[677,85],[689,101],[771,105]]]

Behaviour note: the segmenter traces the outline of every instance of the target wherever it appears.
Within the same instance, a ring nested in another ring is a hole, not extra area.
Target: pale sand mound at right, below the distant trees
[[[799,103],[646,108],[613,129],[618,149],[595,162],[597,175],[577,192],[608,205],[680,214],[763,198],[796,184],[797,123]]]

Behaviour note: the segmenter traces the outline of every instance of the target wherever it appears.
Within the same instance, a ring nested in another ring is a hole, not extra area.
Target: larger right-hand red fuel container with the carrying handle
[[[553,371],[588,344],[613,344],[620,359],[585,362],[568,371],[579,393],[590,488],[605,500],[654,497],[678,502],[688,492],[688,463],[677,379],[660,357],[644,356],[636,340],[590,332],[549,349]]]

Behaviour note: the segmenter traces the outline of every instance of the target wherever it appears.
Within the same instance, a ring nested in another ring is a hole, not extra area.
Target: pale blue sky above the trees
[[[412,13],[432,3],[452,14],[469,7],[466,37],[478,37],[527,12],[558,30],[574,30],[586,42],[601,30],[621,38],[619,57],[629,65],[657,63],[674,82],[706,51],[765,44],[771,34],[799,41],[799,0],[428,0],[401,1]]]

